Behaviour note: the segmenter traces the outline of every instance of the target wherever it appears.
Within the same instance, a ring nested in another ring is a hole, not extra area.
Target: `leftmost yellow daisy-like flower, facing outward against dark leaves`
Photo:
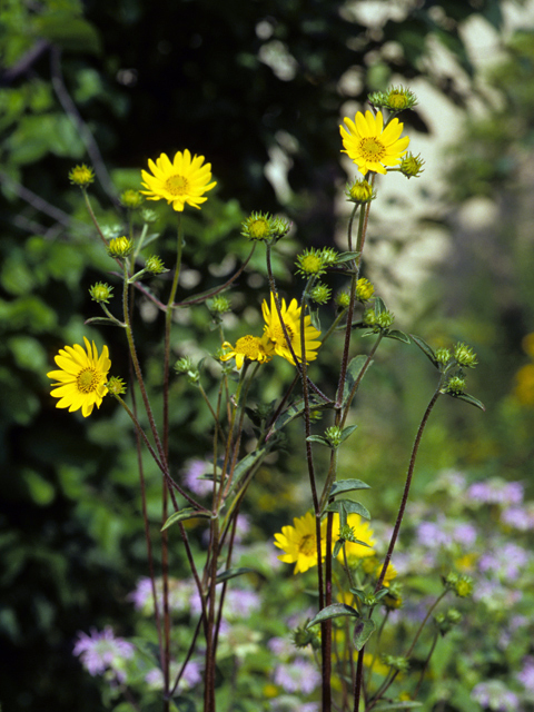
[[[51,395],[60,398],[57,408],[69,408],[69,412],[81,408],[81,414],[87,418],[92,408],[100,407],[103,396],[108,393],[106,383],[111,367],[108,347],[103,346],[98,355],[95,342],[91,344],[83,337],[86,350],[79,344],[60,348],[55,357],[56,364],[61,370],[51,370],[47,374],[52,380]]]

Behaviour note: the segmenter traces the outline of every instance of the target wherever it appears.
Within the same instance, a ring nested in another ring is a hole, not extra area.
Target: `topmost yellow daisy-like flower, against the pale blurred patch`
[[[365,116],[358,111],[354,121],[349,118],[344,121],[347,128],[339,127],[345,148],[342,154],[347,154],[364,176],[369,170],[385,174],[386,167],[398,166],[409,144],[407,136],[400,138],[404,123],[392,119],[384,128],[380,111],[376,116],[370,111]]]

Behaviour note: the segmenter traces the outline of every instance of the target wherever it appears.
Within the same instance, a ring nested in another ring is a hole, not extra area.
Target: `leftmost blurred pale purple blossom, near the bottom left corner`
[[[113,630],[107,625],[101,632],[91,629],[90,635],[78,633],[72,654],[80,657],[89,674],[101,675],[111,670],[122,682],[126,678],[122,663],[132,657],[134,652],[135,646],[122,637],[115,637]]]

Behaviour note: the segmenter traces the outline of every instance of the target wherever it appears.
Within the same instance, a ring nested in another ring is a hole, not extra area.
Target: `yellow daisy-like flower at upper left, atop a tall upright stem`
[[[205,202],[204,194],[211,190],[217,184],[211,180],[211,164],[204,162],[204,156],[194,156],[187,150],[178,151],[170,162],[166,154],[154,162],[148,161],[148,166],[154,175],[141,170],[142,185],[147,190],[141,190],[148,200],[165,199],[172,205],[175,210],[181,212],[186,202],[194,208],[200,209],[200,204]]]

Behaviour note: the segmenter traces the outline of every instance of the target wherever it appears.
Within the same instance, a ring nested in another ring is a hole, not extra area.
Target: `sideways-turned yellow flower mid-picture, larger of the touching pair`
[[[264,313],[265,319],[265,335],[273,343],[275,353],[278,356],[281,356],[290,364],[295,365],[295,360],[291,356],[291,352],[286,340],[286,336],[284,334],[284,328],[281,326],[280,318],[278,316],[278,312],[276,309],[275,296],[270,293],[270,310],[267,306],[267,301],[264,299],[264,304],[261,305],[261,310]],[[286,325],[287,335],[289,336],[290,345],[293,346],[293,350],[297,360],[303,360],[303,349],[300,343],[300,313],[301,308],[298,306],[296,299],[291,299],[289,306],[286,306],[286,300],[283,299],[280,304],[281,319]],[[318,337],[320,336],[320,332],[312,325],[312,317],[304,317],[304,342],[305,342],[305,352],[306,352],[306,363],[309,360],[315,360],[317,358],[317,349],[320,346],[320,342],[318,342]]]

